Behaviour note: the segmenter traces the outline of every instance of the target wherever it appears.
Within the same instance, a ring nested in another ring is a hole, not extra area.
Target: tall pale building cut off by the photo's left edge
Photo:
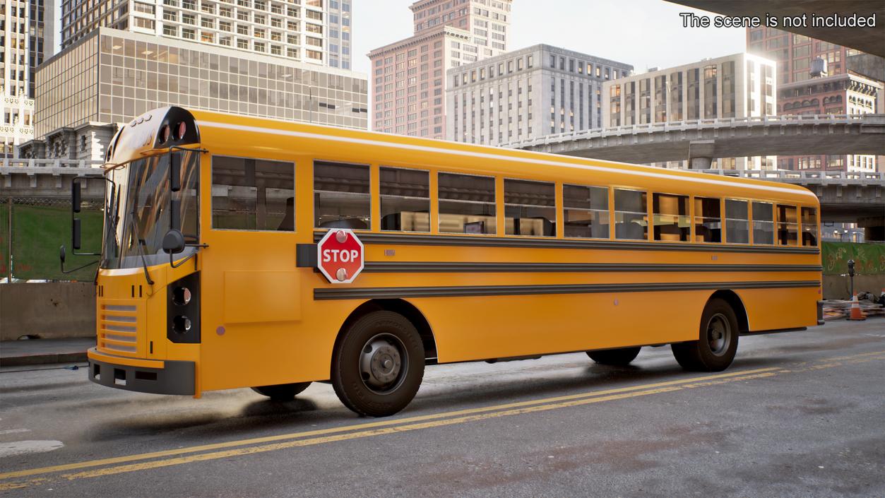
[[[4,2],[0,11],[0,157],[34,136],[34,73],[52,55],[55,23],[52,0]]]

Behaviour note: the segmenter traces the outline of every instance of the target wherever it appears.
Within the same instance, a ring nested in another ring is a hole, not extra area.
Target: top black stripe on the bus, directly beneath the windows
[[[325,231],[313,233],[313,241],[319,242]],[[744,252],[744,253],[791,253],[818,254],[820,248],[759,246],[692,242],[649,242],[649,241],[589,241],[585,239],[519,239],[494,236],[471,235],[404,235],[358,233],[360,241],[368,245],[417,245],[417,246],[469,246],[528,249],[620,249],[620,250],[681,250],[704,252]]]

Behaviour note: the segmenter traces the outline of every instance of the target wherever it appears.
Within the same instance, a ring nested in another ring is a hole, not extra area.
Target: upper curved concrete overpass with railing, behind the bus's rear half
[[[568,156],[627,163],[713,157],[885,154],[885,114],[820,114],[697,119],[551,134],[504,144]]]

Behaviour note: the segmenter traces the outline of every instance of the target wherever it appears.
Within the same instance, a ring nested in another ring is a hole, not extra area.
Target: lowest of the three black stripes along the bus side
[[[473,295],[598,294],[741,288],[820,287],[819,280],[761,282],[656,282],[643,284],[566,284],[537,286],[458,287],[343,287],[313,289],[313,299],[395,299],[400,297],[461,297]]]

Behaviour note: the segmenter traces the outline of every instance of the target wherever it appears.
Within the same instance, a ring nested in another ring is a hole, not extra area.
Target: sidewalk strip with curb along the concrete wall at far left
[[[62,364],[86,361],[96,338],[0,341],[0,366]]]

